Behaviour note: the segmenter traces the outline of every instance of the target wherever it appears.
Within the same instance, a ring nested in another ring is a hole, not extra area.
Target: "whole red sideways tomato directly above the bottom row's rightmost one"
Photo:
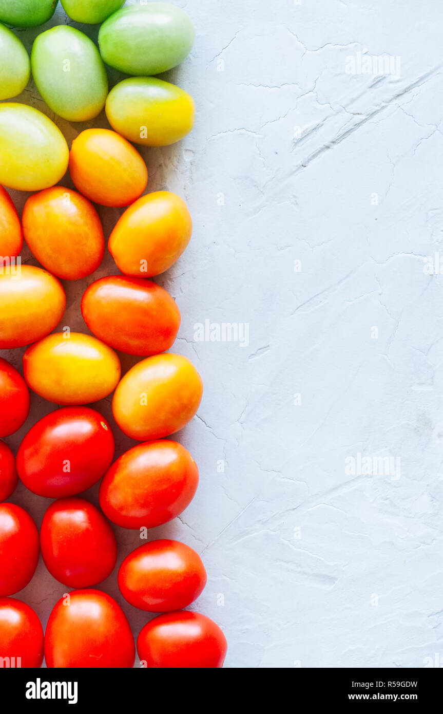
[[[151,540],[129,553],[118,570],[123,598],[151,613],[187,607],[205,585],[200,555],[178,540]]]

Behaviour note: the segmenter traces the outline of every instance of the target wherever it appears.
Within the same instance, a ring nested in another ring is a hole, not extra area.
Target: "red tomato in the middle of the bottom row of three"
[[[131,668],[136,656],[125,613],[101,590],[73,590],[58,600],[44,646],[49,668]]]

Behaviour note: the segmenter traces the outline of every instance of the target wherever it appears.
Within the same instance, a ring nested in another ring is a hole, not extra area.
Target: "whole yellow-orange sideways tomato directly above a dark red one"
[[[80,332],[56,332],[29,347],[24,378],[34,392],[56,404],[88,404],[108,396],[120,379],[116,353]]]

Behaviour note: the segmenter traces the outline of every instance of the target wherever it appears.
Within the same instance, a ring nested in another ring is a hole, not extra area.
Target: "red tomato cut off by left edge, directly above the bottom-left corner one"
[[[39,562],[39,531],[29,513],[0,503],[0,596],[25,588]]]

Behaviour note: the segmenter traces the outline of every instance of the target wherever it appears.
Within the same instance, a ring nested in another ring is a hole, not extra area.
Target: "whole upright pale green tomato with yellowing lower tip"
[[[100,114],[108,76],[100,53],[83,32],[59,25],[36,38],[31,52],[34,81],[46,104],[68,121]]]

